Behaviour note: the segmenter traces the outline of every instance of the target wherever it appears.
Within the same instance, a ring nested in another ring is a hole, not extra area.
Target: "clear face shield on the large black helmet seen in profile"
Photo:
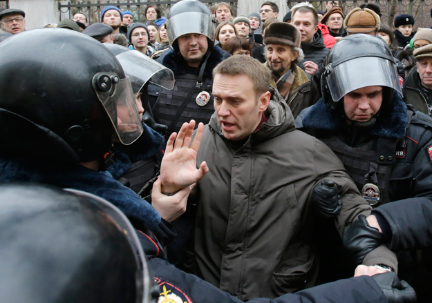
[[[122,144],[132,144],[143,130],[129,77],[120,79],[113,72],[98,72],[93,88]]]

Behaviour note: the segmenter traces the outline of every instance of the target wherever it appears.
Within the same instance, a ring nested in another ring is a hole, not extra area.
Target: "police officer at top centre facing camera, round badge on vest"
[[[207,124],[214,113],[212,70],[222,61],[222,51],[214,48],[216,21],[209,8],[197,0],[183,0],[169,10],[169,49],[160,61],[176,77],[173,90],[149,87],[150,102],[158,124],[169,132],[180,130],[190,119]]]

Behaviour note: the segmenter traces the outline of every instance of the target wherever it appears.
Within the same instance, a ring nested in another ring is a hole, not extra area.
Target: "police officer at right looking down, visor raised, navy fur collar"
[[[303,110],[297,127],[332,148],[364,198],[373,206],[430,199],[432,119],[406,109],[386,43],[362,34],[341,39],[321,86],[323,98]],[[411,258],[399,255],[400,275],[411,274]]]

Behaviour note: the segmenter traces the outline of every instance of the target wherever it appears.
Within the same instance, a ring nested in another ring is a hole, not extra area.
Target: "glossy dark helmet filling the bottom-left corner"
[[[153,279],[124,214],[79,190],[0,186],[1,302],[149,302]]]

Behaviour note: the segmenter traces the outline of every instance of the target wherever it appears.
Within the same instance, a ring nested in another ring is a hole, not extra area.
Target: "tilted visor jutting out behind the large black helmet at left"
[[[116,56],[126,75],[131,80],[133,93],[140,92],[142,86],[150,81],[167,90],[174,87],[174,74],[162,64],[150,59],[138,50],[122,52]]]

